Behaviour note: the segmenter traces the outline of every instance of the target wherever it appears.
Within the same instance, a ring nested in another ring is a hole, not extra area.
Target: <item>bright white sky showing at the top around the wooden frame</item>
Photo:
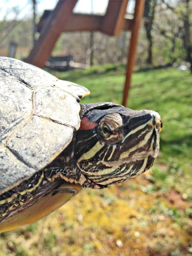
[[[70,0],[72,1],[72,0]],[[42,15],[46,9],[54,9],[58,0],[36,0],[37,3],[37,13]],[[74,8],[74,12],[91,13],[92,3],[93,3],[93,13],[104,14],[108,0],[79,0]],[[127,12],[132,12],[134,9],[135,0],[129,0]],[[32,0],[0,0],[0,20],[4,18],[6,20],[15,19],[15,13],[12,12],[13,7],[19,8],[19,15],[17,19],[26,19],[32,17]]]

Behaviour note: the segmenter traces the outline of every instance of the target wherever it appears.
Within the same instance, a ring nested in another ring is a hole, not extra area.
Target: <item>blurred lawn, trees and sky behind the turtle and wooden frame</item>
[[[29,55],[38,21],[56,0],[0,3],[0,55]],[[74,12],[104,14],[107,0],[79,0]],[[135,1],[127,7],[133,14]],[[59,210],[1,234],[1,255],[192,254],[191,35],[192,2],[148,0],[140,27],[127,107],[161,115],[160,152],[150,172],[103,190],[82,189]],[[35,30],[34,30],[35,28]],[[83,68],[47,71],[84,85],[83,103],[121,104],[130,32],[66,32],[52,56],[71,55]],[[13,46],[10,47],[10,43]],[[48,66],[48,65],[47,65]]]

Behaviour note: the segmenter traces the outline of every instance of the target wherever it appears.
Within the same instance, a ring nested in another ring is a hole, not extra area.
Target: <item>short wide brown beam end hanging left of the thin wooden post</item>
[[[101,32],[110,36],[119,36],[124,28],[128,0],[109,0],[103,18]]]

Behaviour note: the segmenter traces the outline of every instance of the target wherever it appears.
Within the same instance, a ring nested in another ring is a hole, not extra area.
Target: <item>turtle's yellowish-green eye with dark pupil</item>
[[[103,140],[106,140],[110,144],[116,144],[121,141],[121,136],[117,127],[112,123],[100,122],[99,133]]]

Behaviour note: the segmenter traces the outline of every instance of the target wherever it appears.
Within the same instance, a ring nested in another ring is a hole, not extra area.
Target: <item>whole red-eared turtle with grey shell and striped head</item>
[[[153,165],[157,112],[79,104],[84,86],[8,57],[0,77],[1,232],[43,218],[81,188],[107,188]]]

